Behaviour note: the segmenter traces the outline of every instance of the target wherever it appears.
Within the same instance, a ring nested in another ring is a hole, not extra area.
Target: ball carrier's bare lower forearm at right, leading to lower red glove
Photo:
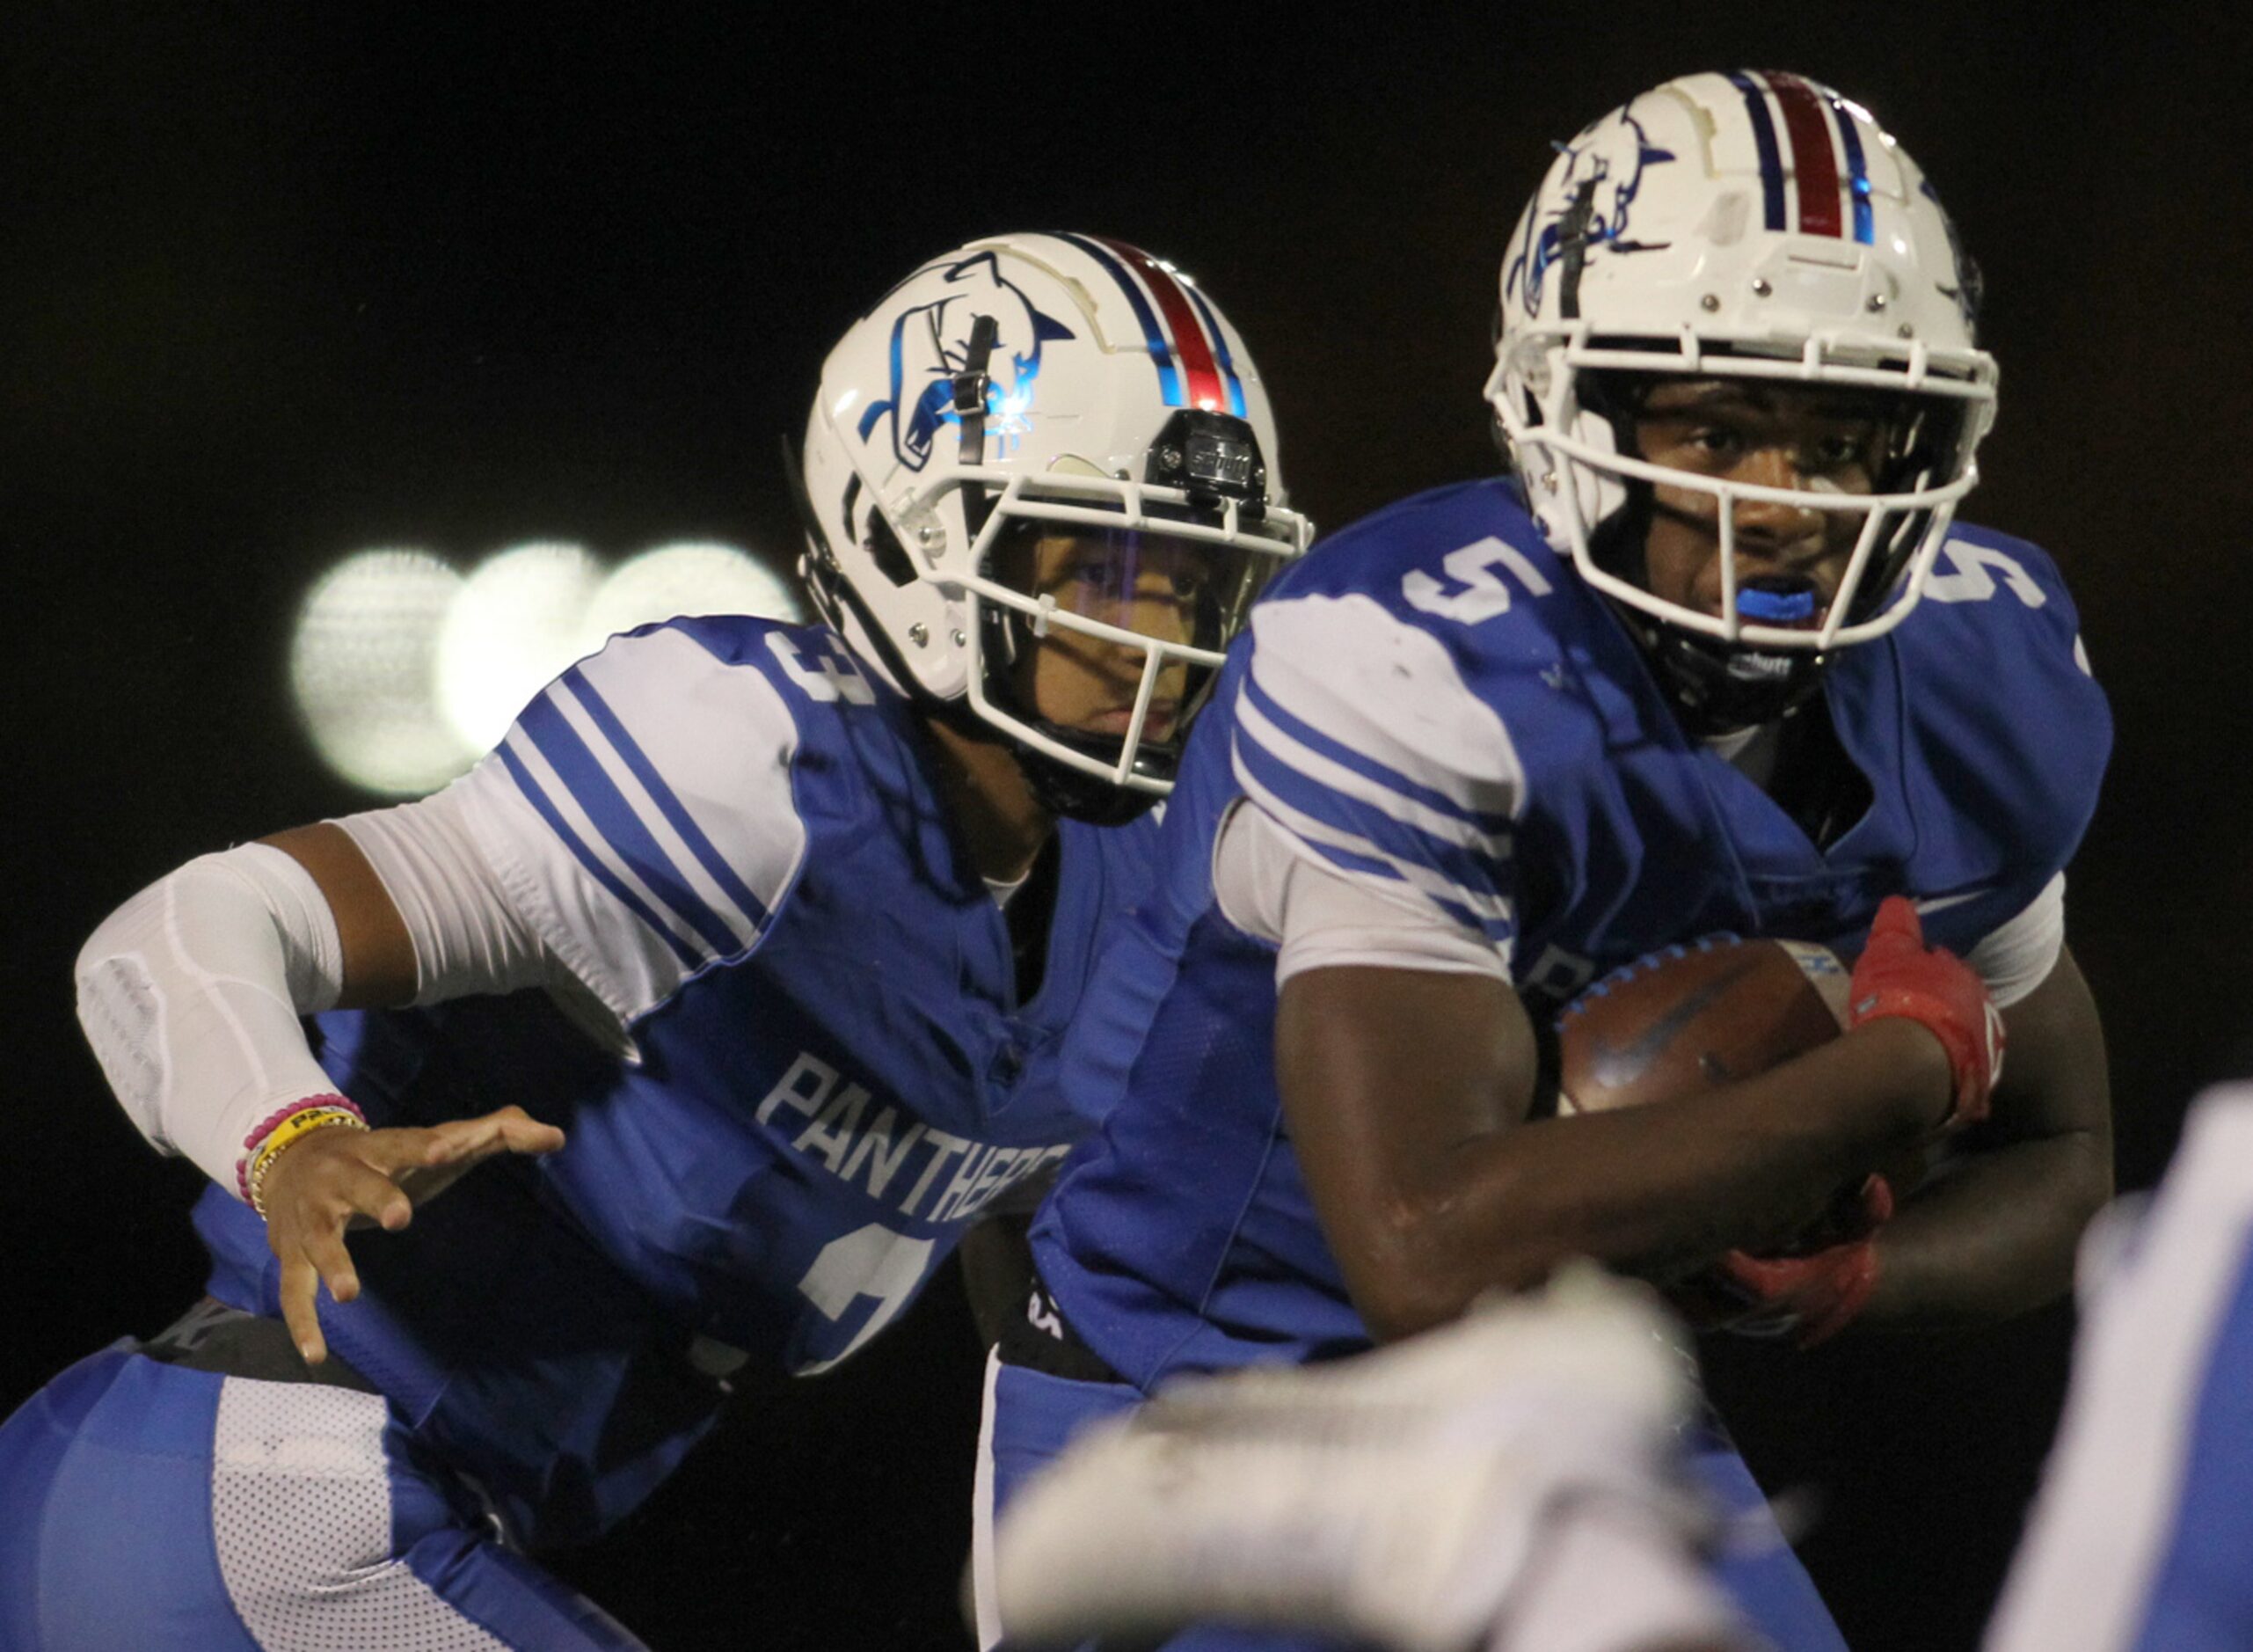
[[[2095,1134],[1965,1156],[1879,1233],[1863,1321],[1953,1330],[2064,1296],[2082,1231],[2109,1194],[2111,1149]]]

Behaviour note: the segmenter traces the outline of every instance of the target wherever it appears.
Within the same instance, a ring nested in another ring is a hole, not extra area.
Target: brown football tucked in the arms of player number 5
[[[1708,935],[1588,987],[1557,1016],[1557,1107],[1694,1095],[1838,1037],[1847,971],[1827,947]]]

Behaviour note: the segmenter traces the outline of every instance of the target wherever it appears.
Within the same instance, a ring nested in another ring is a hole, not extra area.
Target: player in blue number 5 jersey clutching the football
[[[982,1494],[1176,1373],[1352,1352],[1566,1255],[1730,1255],[1805,1339],[2064,1291],[2111,1185],[2061,872],[2111,723],[2050,559],[1953,521],[1976,300],[1911,158],[1793,74],[1676,79],[1559,149],[1500,279],[1514,478],[1293,568],[1192,741],[1075,1028],[1104,1122],[1034,1228]],[[1856,956],[1854,1028],[1541,1116],[1537,1025],[1724,929]],[[1940,1138],[1874,1237],[1789,1255]],[[1699,1467],[1764,1517],[1724,1438]],[[1780,1537],[1721,1575],[1778,1645],[1838,1645]]]

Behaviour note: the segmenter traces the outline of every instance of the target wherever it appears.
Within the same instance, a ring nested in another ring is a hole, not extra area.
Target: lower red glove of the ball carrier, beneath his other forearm
[[[1863,1179],[1789,1255],[1728,1251],[1703,1273],[1667,1291],[1699,1330],[1739,1336],[1796,1336],[1800,1348],[1829,1341],[1877,1289],[1870,1240],[1893,1219],[1893,1183]]]

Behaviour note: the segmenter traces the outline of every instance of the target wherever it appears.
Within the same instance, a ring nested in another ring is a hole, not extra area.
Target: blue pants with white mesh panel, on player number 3
[[[0,1652],[642,1643],[493,1539],[376,1395],[81,1359],[0,1424]]]

